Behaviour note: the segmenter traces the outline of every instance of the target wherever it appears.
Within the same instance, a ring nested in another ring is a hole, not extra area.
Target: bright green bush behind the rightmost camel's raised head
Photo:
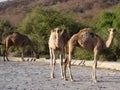
[[[96,28],[99,30],[98,34],[104,39],[108,38],[108,34],[106,35],[107,29],[111,27],[117,30],[113,46],[102,53],[105,54],[106,57],[115,56],[118,59],[120,58],[120,4],[118,4],[112,12],[102,12],[96,24]]]

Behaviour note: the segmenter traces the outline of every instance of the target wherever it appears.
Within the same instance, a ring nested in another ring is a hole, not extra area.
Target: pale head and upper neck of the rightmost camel
[[[105,43],[106,44],[106,48],[109,48],[112,45],[116,29],[115,28],[110,28],[110,29],[108,29],[108,31],[110,33],[109,33],[108,40]]]

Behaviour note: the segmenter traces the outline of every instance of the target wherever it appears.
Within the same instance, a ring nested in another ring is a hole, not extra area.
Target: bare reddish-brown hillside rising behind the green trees
[[[7,18],[18,25],[32,8],[57,7],[61,12],[72,12],[76,21],[90,20],[103,10],[111,10],[120,0],[8,0],[0,3],[0,19]]]

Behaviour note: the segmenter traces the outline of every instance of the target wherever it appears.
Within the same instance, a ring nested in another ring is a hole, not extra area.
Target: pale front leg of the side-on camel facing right
[[[97,77],[96,77],[96,68],[97,68],[97,60],[98,60],[98,50],[95,48],[94,49],[94,64],[93,64],[93,81],[96,83],[97,82]]]

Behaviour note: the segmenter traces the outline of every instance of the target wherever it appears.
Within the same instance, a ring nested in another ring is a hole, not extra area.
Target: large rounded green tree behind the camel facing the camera
[[[59,10],[36,7],[23,20],[17,31],[28,35],[38,51],[46,54],[49,53],[48,38],[51,29],[61,27],[69,30],[72,35],[83,26],[74,22],[71,17],[63,15]]]

